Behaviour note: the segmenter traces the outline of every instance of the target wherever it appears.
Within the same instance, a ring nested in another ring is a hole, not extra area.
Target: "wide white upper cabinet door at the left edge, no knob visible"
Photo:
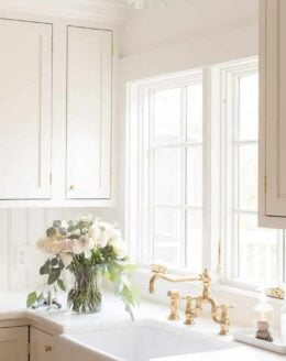
[[[0,20],[0,199],[51,196],[52,25]]]

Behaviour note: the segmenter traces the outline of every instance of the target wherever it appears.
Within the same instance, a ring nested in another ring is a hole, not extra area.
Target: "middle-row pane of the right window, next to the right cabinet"
[[[239,146],[239,208],[243,210],[257,209],[257,145]]]

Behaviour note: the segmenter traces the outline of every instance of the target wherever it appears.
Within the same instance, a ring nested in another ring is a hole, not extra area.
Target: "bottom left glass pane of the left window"
[[[180,212],[177,209],[155,208],[154,210],[154,242],[178,242],[180,230]]]

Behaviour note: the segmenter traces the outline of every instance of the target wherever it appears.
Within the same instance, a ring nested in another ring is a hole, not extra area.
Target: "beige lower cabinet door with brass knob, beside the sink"
[[[31,327],[30,343],[30,361],[55,361],[54,337],[52,335]]]

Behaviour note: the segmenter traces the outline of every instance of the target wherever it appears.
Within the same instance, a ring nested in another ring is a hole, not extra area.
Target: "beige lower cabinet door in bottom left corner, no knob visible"
[[[28,361],[29,328],[0,328],[0,361]]]

